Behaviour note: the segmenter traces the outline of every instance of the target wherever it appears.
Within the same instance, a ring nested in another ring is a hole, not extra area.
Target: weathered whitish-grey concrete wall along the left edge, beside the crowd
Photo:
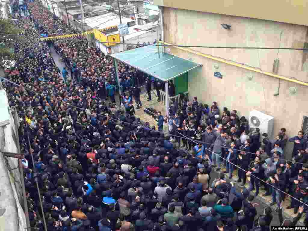
[[[3,93],[4,90],[0,91]],[[7,101],[3,98],[6,97],[5,94],[0,95],[2,102]],[[8,105],[0,109],[8,110]],[[0,127],[0,231],[25,231],[27,227],[25,213],[21,206],[23,204],[22,179],[17,168],[18,159],[4,157],[2,154],[3,152],[18,153],[17,142],[18,131],[15,129],[14,116],[9,110],[9,123]]]

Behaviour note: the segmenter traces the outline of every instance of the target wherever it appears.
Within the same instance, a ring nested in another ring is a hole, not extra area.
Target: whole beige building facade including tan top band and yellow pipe
[[[165,44],[260,47],[166,47],[166,52],[203,65],[188,73],[190,99],[197,96],[209,105],[216,101],[220,108],[235,109],[246,118],[253,109],[261,111],[275,118],[273,136],[282,127],[295,136],[299,130],[308,132],[304,108],[308,52],[261,47],[307,47],[308,23],[301,18],[305,2],[155,0],[154,4],[161,9]],[[292,148],[289,143],[287,149]]]

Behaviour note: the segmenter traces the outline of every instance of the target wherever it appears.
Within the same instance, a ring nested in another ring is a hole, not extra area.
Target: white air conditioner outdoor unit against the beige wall
[[[250,128],[259,128],[261,137],[263,133],[267,133],[271,139],[274,128],[274,117],[266,115],[261,111],[252,110],[249,114],[249,126]]]

